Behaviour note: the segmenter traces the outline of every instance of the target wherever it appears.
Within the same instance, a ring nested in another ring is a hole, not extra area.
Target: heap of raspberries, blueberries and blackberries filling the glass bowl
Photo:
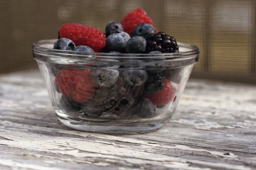
[[[90,53],[149,53],[154,56],[176,53],[178,45],[174,37],[158,32],[144,10],[135,9],[121,22],[109,22],[105,33],[82,24],[64,24],[59,29],[54,49]],[[145,62],[143,60],[131,61],[136,65],[118,66],[122,68],[119,70],[55,68],[55,86],[62,94],[61,107],[66,111],[81,110],[91,118],[104,114],[151,118],[155,116],[157,106],[175,101],[177,90],[171,83],[169,73],[163,72],[161,66],[159,70],[140,68],[140,64]]]

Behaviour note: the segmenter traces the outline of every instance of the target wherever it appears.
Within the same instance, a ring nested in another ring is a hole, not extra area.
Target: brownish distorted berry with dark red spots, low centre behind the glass
[[[130,86],[119,76],[113,85],[99,87],[92,99],[87,101],[91,104],[87,102],[84,104],[96,114],[106,112],[119,117],[128,117],[133,113],[134,105],[140,96],[141,86]]]

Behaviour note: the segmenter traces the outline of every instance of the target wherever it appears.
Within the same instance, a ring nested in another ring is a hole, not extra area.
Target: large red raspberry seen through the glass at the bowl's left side
[[[97,85],[92,82],[91,70],[79,70],[76,68],[64,68],[55,78],[57,89],[78,102],[86,102],[94,96]]]

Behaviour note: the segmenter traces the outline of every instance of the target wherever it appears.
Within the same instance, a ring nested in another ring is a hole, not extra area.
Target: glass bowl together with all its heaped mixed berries
[[[142,9],[109,22],[105,33],[64,24],[58,39],[32,49],[59,120],[98,133],[164,126],[199,58],[196,46],[158,31]]]

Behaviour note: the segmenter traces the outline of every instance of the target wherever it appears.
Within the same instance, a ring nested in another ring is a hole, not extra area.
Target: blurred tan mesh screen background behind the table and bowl
[[[256,84],[256,0],[0,0],[0,74],[37,69],[32,44],[65,23],[104,32],[136,8],[159,31],[199,47],[192,78]]]

